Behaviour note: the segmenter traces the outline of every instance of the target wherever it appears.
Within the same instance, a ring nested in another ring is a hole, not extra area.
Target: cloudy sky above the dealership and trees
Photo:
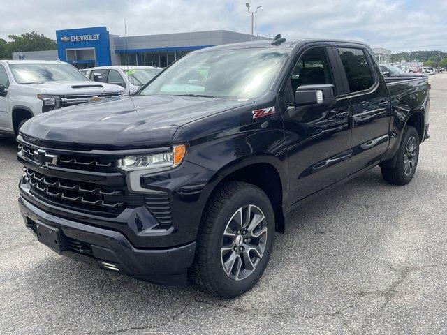
[[[447,51],[447,0],[250,0],[263,5],[255,34],[363,40],[393,52]],[[0,38],[36,31],[106,26],[148,35],[227,29],[250,33],[244,0],[14,0],[0,10]]]

